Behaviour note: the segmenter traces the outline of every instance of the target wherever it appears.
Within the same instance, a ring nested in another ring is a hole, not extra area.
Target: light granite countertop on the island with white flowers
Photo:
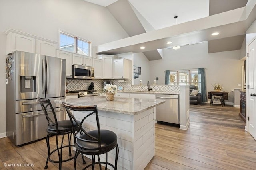
[[[98,110],[102,111],[138,115],[148,109],[166,102],[166,100],[116,97],[112,101],[106,101],[106,96],[86,96],[81,98],[55,100],[55,102],[66,102],[75,106],[97,105]]]

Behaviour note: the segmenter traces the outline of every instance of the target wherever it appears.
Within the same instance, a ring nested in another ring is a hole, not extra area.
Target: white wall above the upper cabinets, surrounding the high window
[[[0,137],[6,132],[4,31],[8,28],[56,42],[62,29],[93,46],[128,37],[106,8],[83,0],[0,0]]]

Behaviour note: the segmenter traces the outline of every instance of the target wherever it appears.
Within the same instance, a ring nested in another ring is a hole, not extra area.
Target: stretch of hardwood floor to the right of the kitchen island
[[[190,105],[187,131],[156,124],[155,156],[146,170],[255,170],[256,141],[239,109]]]

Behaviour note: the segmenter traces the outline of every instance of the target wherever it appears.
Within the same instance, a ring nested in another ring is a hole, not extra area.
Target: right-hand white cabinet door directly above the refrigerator
[[[37,40],[37,53],[56,57],[56,44]]]

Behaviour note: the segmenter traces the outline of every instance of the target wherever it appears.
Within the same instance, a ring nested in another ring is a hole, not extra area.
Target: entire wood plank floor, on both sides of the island
[[[145,170],[256,170],[256,141],[244,130],[245,123],[238,112],[238,108],[227,105],[190,105],[187,131],[156,124],[155,156]],[[55,137],[50,142],[55,146]],[[64,154],[67,152],[64,150]],[[46,157],[45,139],[22,147],[16,147],[8,138],[0,139],[1,170],[41,170]],[[34,166],[4,167],[4,163]],[[72,160],[62,163],[63,170],[73,167]],[[77,169],[82,167],[82,158],[78,156]],[[49,162],[48,169],[57,170],[58,164]]]

